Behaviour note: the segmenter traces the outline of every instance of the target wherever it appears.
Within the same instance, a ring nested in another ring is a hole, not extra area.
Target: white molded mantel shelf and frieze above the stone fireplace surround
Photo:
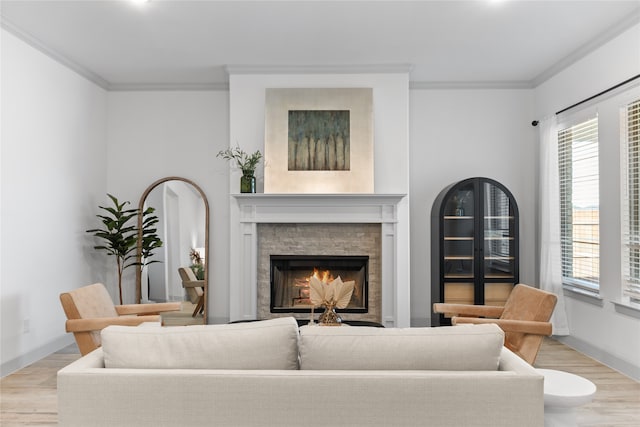
[[[241,223],[394,223],[406,194],[232,194]]]

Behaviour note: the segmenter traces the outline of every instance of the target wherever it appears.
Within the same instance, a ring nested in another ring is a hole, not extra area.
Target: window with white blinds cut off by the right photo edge
[[[626,106],[622,124],[622,280],[640,302],[640,99]]]

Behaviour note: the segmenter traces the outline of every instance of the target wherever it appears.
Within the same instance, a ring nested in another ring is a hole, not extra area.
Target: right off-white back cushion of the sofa
[[[497,370],[504,332],[495,324],[439,328],[304,326],[300,369]]]

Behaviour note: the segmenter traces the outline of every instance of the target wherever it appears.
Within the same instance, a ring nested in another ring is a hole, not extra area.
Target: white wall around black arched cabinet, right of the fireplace
[[[412,90],[411,323],[431,320],[431,208],[449,184],[488,177],[520,211],[520,281],[535,284],[536,142],[531,90]],[[437,236],[436,236],[437,237]]]

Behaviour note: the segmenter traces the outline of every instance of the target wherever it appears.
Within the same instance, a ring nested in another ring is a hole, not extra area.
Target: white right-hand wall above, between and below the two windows
[[[603,45],[536,88],[540,118],[640,74],[640,24]],[[611,115],[614,117],[611,117]],[[600,129],[600,294],[591,301],[568,294],[566,312],[571,336],[562,340],[610,366],[640,379],[640,312],[616,310],[621,297],[620,156],[617,109],[599,111]]]

